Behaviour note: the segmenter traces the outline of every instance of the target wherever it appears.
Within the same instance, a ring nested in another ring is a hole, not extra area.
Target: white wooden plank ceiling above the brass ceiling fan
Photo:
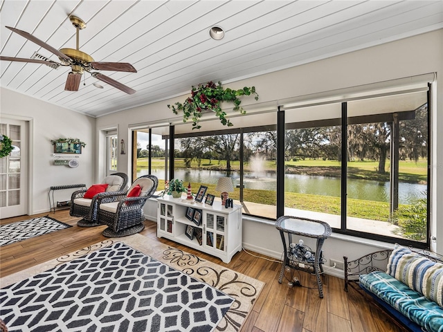
[[[3,0],[0,54],[37,52],[59,62],[5,26],[57,49],[75,48],[69,15],[87,23],[80,50],[98,62],[136,68],[102,73],[137,92],[128,95],[89,73],[79,91],[64,91],[69,67],[8,61],[0,62],[0,84],[98,117],[186,94],[209,80],[226,84],[443,28],[443,1]],[[224,29],[224,39],[210,38],[212,26]]]

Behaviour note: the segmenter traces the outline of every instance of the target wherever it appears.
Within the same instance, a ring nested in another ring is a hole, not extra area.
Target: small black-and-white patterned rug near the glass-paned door
[[[49,216],[0,225],[0,246],[72,227]]]

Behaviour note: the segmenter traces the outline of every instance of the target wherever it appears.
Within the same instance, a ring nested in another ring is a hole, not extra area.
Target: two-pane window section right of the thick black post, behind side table
[[[285,111],[284,214],[428,243],[426,91]]]

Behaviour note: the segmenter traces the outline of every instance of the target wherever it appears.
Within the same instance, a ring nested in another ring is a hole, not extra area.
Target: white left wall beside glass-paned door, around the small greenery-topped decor
[[[1,119],[24,117],[30,119],[30,188],[32,199],[29,214],[49,211],[48,191],[52,185],[73,183],[93,183],[95,169],[95,131],[96,119],[83,114],[48,104],[42,100],[21,95],[15,91],[1,88]],[[51,140],[57,138],[79,138],[87,143],[78,155],[80,165],[76,168],[55,166],[54,146]],[[55,192],[55,201],[71,199],[73,190]]]

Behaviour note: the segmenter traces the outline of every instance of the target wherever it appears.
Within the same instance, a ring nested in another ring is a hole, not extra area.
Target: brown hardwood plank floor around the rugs
[[[44,215],[46,214],[2,219],[0,224]],[[77,221],[80,218],[69,216],[69,210],[49,213],[48,216],[73,225],[73,227],[1,247],[1,277],[107,239],[101,234],[106,226],[80,228],[77,226]],[[349,293],[345,293],[342,279],[324,275],[325,297],[320,299],[316,288],[316,279],[312,275],[303,272],[296,273],[303,287],[289,288],[287,282],[278,283],[280,263],[267,260],[263,255],[253,253],[258,256],[254,257],[242,251],[233,257],[230,264],[224,264],[220,259],[203,252],[169,240],[158,239],[156,237],[156,223],[152,221],[145,221],[145,226],[145,230],[140,234],[147,237],[149,241],[160,241],[180,248],[266,283],[242,327],[242,332],[402,331],[392,324],[384,313],[377,310],[369,297],[357,293],[352,288]]]

